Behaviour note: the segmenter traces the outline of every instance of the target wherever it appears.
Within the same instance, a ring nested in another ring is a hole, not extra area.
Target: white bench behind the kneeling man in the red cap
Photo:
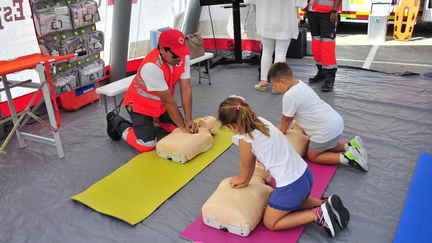
[[[203,56],[198,56],[196,58],[190,59],[190,67],[198,71],[198,83],[201,83],[201,78],[203,78],[208,79],[209,84],[212,84],[210,80],[210,58],[212,57],[213,53],[205,53]],[[201,61],[204,60],[207,60],[207,74],[201,71]],[[198,67],[192,66],[192,64],[195,63],[198,63]],[[203,74],[203,76],[201,76],[201,74]],[[120,108],[117,109],[117,101],[115,100],[115,96],[128,90],[132,81],[134,81],[134,78],[135,75],[132,75],[124,79],[108,83],[96,89],[97,94],[101,94],[104,96],[105,113],[108,113],[107,96],[111,96],[114,99],[115,113],[118,114],[120,112]],[[120,102],[120,104],[122,103],[122,101]]]

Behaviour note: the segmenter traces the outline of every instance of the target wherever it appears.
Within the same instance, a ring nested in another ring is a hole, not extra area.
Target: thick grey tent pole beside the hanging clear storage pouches
[[[114,0],[109,82],[126,78],[132,0]]]

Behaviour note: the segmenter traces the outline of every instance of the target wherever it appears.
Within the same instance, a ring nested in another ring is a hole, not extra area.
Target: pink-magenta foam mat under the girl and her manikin
[[[312,187],[311,196],[320,198],[325,188],[327,188],[338,164],[322,165],[312,163],[307,158],[304,159],[314,174],[314,186]],[[272,180],[269,185],[274,188],[274,180]],[[195,243],[295,243],[305,226],[306,225],[300,225],[289,230],[270,231],[266,229],[261,221],[248,236],[243,237],[207,226],[203,223],[202,216],[199,216],[179,236]]]

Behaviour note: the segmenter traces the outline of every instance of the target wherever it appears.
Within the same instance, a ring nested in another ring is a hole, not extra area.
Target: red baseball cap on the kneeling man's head
[[[185,35],[177,29],[163,31],[159,36],[158,44],[162,47],[169,47],[178,56],[191,54],[186,46]]]

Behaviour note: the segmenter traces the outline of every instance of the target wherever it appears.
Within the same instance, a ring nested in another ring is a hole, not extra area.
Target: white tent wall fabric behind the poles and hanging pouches
[[[189,0],[133,0],[128,61],[140,59],[148,53],[151,30],[162,27],[183,30],[184,26],[188,24],[184,21],[185,16],[197,14],[187,12],[190,2],[198,4],[198,1]],[[115,34],[112,33],[112,1],[102,0],[98,10],[101,21],[96,23],[96,28],[105,33],[105,51],[101,53],[101,58],[104,59],[106,65],[109,65],[111,36]],[[258,40],[253,7],[241,8],[241,20],[243,41]],[[209,43],[211,49],[214,48],[213,38],[215,37],[218,50],[229,50],[226,39],[234,38],[232,10],[222,8],[221,5],[202,7],[197,32],[202,34],[205,43]],[[205,47],[209,45],[205,45]],[[246,45],[243,46],[243,50],[251,50],[251,48]],[[40,53],[40,49],[33,27],[29,1],[0,0],[0,60],[33,53]],[[34,71],[11,74],[8,75],[8,78],[12,80],[38,80]],[[34,90],[17,87],[12,90],[12,97],[20,99],[23,95],[31,92]],[[4,92],[1,92],[0,95],[0,101],[4,102],[6,100]],[[6,107],[6,105],[2,106],[2,108]]]

